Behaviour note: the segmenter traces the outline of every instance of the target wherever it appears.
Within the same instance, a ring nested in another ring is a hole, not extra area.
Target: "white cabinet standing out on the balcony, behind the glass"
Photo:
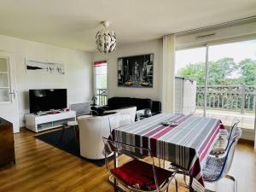
[[[195,112],[196,81],[175,78],[175,113]]]

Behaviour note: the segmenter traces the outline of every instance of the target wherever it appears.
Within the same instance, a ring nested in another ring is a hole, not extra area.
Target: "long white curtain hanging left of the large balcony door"
[[[175,34],[163,38],[163,75],[162,75],[163,112],[174,113],[175,97]]]

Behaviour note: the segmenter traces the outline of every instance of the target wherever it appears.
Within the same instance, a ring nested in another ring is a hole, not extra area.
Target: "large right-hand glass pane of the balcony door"
[[[211,45],[207,63],[207,117],[254,130],[256,40]]]

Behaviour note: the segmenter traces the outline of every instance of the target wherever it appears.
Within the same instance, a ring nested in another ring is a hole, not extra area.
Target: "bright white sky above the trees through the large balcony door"
[[[224,57],[234,58],[237,63],[245,58],[256,60],[256,40],[243,41],[231,44],[219,44],[209,47],[209,61],[218,61]],[[176,73],[189,63],[206,61],[206,48],[177,50]]]

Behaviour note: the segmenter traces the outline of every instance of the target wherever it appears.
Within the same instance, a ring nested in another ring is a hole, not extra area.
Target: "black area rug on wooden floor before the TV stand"
[[[48,144],[54,146],[55,148],[60,148],[61,150],[66,151],[69,154],[73,154],[83,160],[87,160],[96,166],[104,166],[105,160],[89,160],[80,155],[80,148],[79,148],[78,144],[76,143],[72,129],[73,128],[67,128],[65,130],[61,142],[60,142],[61,130],[44,133],[39,136],[36,136],[36,138],[40,139],[41,141],[43,141],[45,143],[48,143]]]

